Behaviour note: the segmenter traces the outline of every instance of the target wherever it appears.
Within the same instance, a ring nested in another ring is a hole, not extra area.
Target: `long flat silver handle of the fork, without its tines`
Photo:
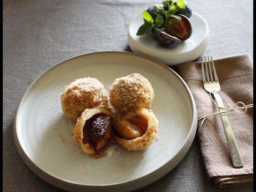
[[[218,92],[212,91],[212,94],[214,95],[214,98],[215,98],[217,104],[221,107],[224,107],[223,102],[222,102],[221,97],[218,94]],[[224,111],[223,109],[220,109],[220,108],[219,108],[219,110]],[[228,116],[225,112],[221,113],[220,116],[221,116],[221,119],[222,119],[222,124],[223,124],[223,127],[224,127],[224,132],[225,132],[225,135],[226,135],[226,140],[227,140],[227,143],[228,143],[228,149],[229,149],[229,152],[230,152],[230,156],[231,156],[233,166],[234,167],[243,167],[244,163],[243,163],[242,157],[240,155],[238,146],[236,144],[236,139],[235,139],[233,131],[231,129],[230,122],[228,120]]]

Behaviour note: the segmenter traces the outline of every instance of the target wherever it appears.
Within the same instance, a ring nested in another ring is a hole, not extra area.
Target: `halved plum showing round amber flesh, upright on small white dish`
[[[190,20],[184,15],[178,15],[181,17],[181,21],[174,18],[169,17],[166,22],[166,32],[174,36],[182,41],[187,40],[190,38],[192,34],[192,25]]]

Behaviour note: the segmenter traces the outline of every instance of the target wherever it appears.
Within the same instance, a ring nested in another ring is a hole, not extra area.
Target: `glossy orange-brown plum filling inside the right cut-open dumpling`
[[[141,137],[148,129],[148,120],[140,115],[118,120],[114,126],[118,136],[132,140]]]

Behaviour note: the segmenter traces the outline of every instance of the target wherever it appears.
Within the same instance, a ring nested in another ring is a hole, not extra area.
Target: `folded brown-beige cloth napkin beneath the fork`
[[[236,102],[253,103],[253,62],[249,54],[214,60],[220,92],[231,106]],[[180,64],[178,73],[190,88],[198,118],[218,111],[202,84],[201,62]],[[224,102],[224,100],[223,100]],[[224,103],[225,105],[225,103]],[[226,106],[226,105],[225,105]],[[219,188],[253,184],[253,108],[245,114],[227,112],[244,167],[234,168],[220,115],[208,117],[198,138],[208,180]],[[198,126],[201,121],[198,122]]]

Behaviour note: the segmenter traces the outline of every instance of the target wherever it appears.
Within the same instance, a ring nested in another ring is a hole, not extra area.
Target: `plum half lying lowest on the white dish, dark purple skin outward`
[[[173,48],[180,44],[182,41],[174,36],[167,34],[165,31],[151,30],[152,38],[158,42],[160,46],[166,48]]]

